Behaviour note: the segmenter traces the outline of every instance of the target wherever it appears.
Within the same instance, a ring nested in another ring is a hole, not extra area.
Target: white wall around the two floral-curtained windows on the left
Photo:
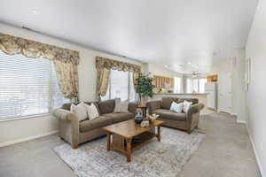
[[[79,93],[82,101],[95,100],[96,68],[95,57],[101,56],[116,60],[129,62],[131,64],[143,65],[143,63],[128,58],[120,58],[103,52],[89,50],[73,43],[64,42],[55,38],[35,34],[25,29],[10,27],[0,24],[0,32],[8,35],[20,36],[37,42],[48,43],[70,50],[80,51],[81,61],[78,67]],[[0,122],[0,146],[10,142],[17,142],[36,135],[46,135],[58,130],[57,119],[52,116],[19,119]]]

